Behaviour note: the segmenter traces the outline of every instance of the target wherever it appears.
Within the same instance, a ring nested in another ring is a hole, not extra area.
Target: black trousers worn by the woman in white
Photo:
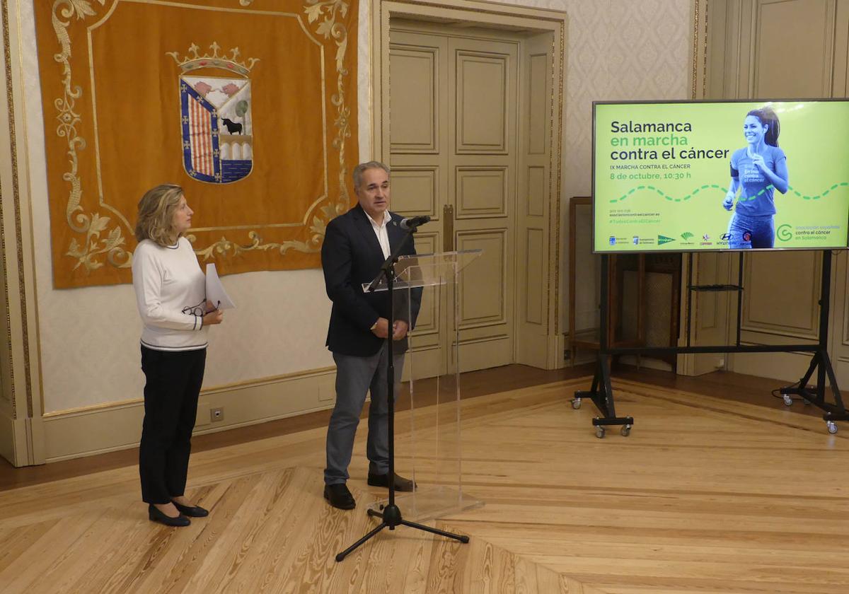
[[[183,495],[206,349],[169,352],[142,346],[144,423],[138,448],[142,499],[168,503]]]

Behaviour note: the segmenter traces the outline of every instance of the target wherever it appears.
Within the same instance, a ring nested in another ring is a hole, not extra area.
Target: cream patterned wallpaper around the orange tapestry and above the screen
[[[22,107],[33,196],[44,412],[58,412],[140,397],[140,323],[130,285],[53,289],[44,123],[31,2],[22,0],[20,10],[26,73]],[[570,18],[561,227],[565,230],[569,197],[590,192],[593,99],[689,96],[690,0],[526,0],[514,4],[565,10]],[[368,0],[361,0],[361,160],[372,157],[368,23]],[[582,273],[591,278],[589,271]],[[563,278],[560,286],[565,292]],[[225,277],[224,283],[239,309],[228,311],[225,323],[211,330],[205,387],[332,365],[323,346],[329,300],[320,271],[250,272]],[[565,320],[563,295],[560,311]]]

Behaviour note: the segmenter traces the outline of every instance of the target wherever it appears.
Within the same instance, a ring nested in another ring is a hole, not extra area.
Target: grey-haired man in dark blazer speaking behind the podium
[[[389,168],[377,161],[357,165],[354,191],[359,204],[330,221],[321,250],[324,283],[333,301],[327,346],[336,362],[336,404],[327,431],[327,468],[324,497],[340,509],[355,507],[346,486],[348,464],[366,393],[371,391],[368,412],[368,485],[389,485],[388,401],[386,337],[392,334],[396,380],[401,378],[407,332],[418,314],[421,292],[413,291],[413,304],[396,305],[395,323],[389,328],[386,292],[366,294],[380,266],[405,238],[402,218],[389,211]],[[413,236],[402,255],[415,254]],[[396,301],[406,291],[396,291]],[[413,481],[396,475],[397,490],[413,490]]]

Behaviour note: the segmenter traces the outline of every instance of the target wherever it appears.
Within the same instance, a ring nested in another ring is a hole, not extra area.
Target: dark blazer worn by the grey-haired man
[[[392,220],[386,223],[386,233],[390,249],[394,250],[407,232],[400,226],[401,216],[395,213],[390,213],[390,216]],[[415,253],[411,235],[401,255]],[[389,318],[386,292],[363,293],[363,283],[374,280],[384,261],[374,227],[360,205],[329,222],[321,249],[324,285],[333,301],[327,333],[329,350],[341,355],[372,356],[385,342],[385,339],[374,336],[370,328],[379,317]],[[395,293],[395,318],[407,321],[407,291],[396,290]],[[411,293],[413,306],[409,309],[414,322],[421,305],[421,289],[413,289]],[[398,298],[402,296],[404,298],[399,304]],[[413,328],[413,323],[410,323],[410,328]],[[407,350],[407,339],[396,341],[395,348],[397,353]]]

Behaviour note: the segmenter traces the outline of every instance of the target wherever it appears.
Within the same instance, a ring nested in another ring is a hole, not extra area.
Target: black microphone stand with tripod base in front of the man
[[[389,369],[386,372],[386,398],[389,405],[389,414],[388,414],[388,434],[389,434],[389,503],[386,507],[383,508],[382,512],[375,512],[374,509],[368,510],[369,516],[374,516],[375,518],[380,518],[383,520],[378,524],[374,530],[370,530],[368,534],[363,536],[359,541],[355,542],[344,551],[340,552],[336,555],[336,561],[340,562],[342,559],[346,558],[350,552],[357,548],[357,546],[362,545],[365,541],[368,541],[372,536],[376,535],[380,530],[384,528],[388,528],[389,530],[395,530],[396,526],[409,526],[410,528],[415,528],[418,530],[424,530],[425,532],[430,532],[431,534],[447,536],[448,538],[453,538],[456,541],[460,541],[463,543],[469,542],[469,537],[466,535],[455,535],[451,532],[447,532],[445,530],[439,530],[436,528],[430,528],[430,526],[425,526],[424,524],[416,524],[415,522],[409,522],[402,518],[401,509],[395,505],[395,365],[392,362],[393,352],[392,352],[392,326],[395,322],[395,301],[394,301],[394,286],[395,286],[395,263],[398,261],[398,257],[401,255],[401,250],[404,244],[407,243],[408,238],[416,233],[417,226],[409,227],[407,233],[404,235],[402,240],[398,242],[395,250],[386,258],[386,261],[383,263],[383,266],[380,266],[380,272],[377,277],[374,278],[374,281],[370,285],[368,285],[368,293],[374,291],[377,288],[378,284],[380,284],[380,280],[382,278],[386,278],[386,295],[389,300],[389,329],[386,336],[386,350],[387,356],[389,357]],[[410,323],[412,324],[412,320]],[[415,488],[415,487],[413,487]]]

